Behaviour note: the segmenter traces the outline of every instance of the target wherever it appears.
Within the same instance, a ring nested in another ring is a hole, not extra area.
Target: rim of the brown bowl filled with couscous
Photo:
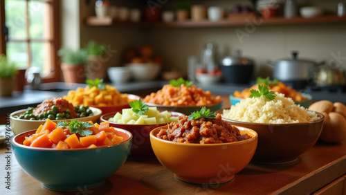
[[[226,109],[230,109],[230,108],[226,108]],[[217,111],[215,111],[215,113],[222,113],[222,111],[226,110],[226,109],[219,109]],[[318,123],[318,122],[321,122],[323,120],[325,120],[325,115],[323,115],[322,113],[319,113],[319,112],[316,112],[316,111],[310,111],[310,110],[307,110],[308,112],[313,112],[313,113],[316,113],[320,118],[318,120],[313,120],[313,121],[308,121],[308,122],[291,122],[291,123],[261,123],[261,122],[244,122],[244,121],[239,121],[239,120],[231,120],[231,119],[228,119],[228,118],[222,118],[222,120],[225,120],[227,122],[234,122],[234,123],[237,123],[237,124],[252,124],[252,125],[271,125],[271,126],[287,126],[287,125],[290,125],[290,126],[298,126],[298,125],[302,125],[302,124],[315,124],[315,123]]]

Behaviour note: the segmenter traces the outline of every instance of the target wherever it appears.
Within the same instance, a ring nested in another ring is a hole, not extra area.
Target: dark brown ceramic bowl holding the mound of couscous
[[[215,113],[222,113],[223,109]],[[317,113],[317,112],[316,112]],[[258,133],[258,145],[252,161],[257,163],[291,163],[315,145],[322,131],[325,116],[312,122],[267,124],[241,122],[223,118],[230,124],[253,129]]]

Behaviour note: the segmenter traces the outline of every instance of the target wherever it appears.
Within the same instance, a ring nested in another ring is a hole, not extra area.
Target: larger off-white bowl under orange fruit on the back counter
[[[159,64],[126,64],[129,67],[134,80],[150,81],[154,80],[161,71]]]

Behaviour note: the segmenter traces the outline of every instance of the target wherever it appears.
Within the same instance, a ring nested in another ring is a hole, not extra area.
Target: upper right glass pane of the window
[[[44,38],[45,34],[48,34],[49,24],[45,24],[46,20],[49,20],[49,16],[46,14],[48,11],[46,3],[41,1],[29,1],[29,35],[30,38]],[[44,26],[46,29],[44,29]],[[46,32],[45,32],[46,31]]]

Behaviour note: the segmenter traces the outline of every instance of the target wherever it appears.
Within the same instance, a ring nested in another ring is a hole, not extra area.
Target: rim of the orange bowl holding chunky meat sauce
[[[161,142],[165,142],[165,143],[169,143],[169,144],[173,144],[173,145],[189,145],[191,147],[214,147],[214,146],[222,146],[222,145],[242,145],[242,144],[246,144],[247,142],[253,142],[255,140],[258,140],[258,134],[255,130],[247,128],[247,127],[241,127],[241,126],[237,126],[237,125],[232,125],[233,127],[237,127],[239,130],[242,129],[242,131],[247,131],[247,132],[251,132],[251,134],[255,135],[252,138],[248,139],[248,140],[242,140],[242,141],[238,141],[238,142],[226,142],[226,143],[214,143],[214,144],[199,144],[199,143],[181,143],[181,142],[173,142],[170,140],[163,140],[161,138],[157,138],[156,136],[154,136],[154,133],[158,130],[161,129],[167,129],[167,125],[162,126],[162,127],[157,127],[155,129],[153,129],[152,131],[150,131],[150,138],[151,139],[155,139],[155,140],[159,140]]]

